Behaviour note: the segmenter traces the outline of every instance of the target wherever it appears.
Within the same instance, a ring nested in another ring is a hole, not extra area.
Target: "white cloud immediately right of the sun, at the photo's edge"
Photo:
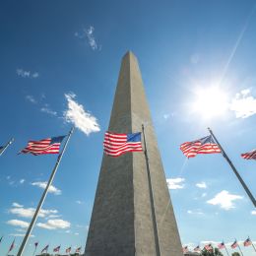
[[[242,90],[232,99],[229,109],[236,118],[247,118],[256,113],[256,97],[250,95],[250,89]]]

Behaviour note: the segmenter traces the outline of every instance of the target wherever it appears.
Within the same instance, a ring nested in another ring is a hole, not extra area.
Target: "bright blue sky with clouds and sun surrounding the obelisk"
[[[17,153],[31,139],[67,134],[68,120],[87,125],[71,138],[26,255],[35,241],[50,251],[85,245],[128,49],[140,62],[182,243],[256,241],[256,211],[224,158],[186,160],[179,150],[210,126],[256,196],[256,163],[240,158],[256,148],[255,1],[8,0],[0,21],[0,144],[15,137],[0,158],[1,255],[14,236],[17,253],[56,160]]]

